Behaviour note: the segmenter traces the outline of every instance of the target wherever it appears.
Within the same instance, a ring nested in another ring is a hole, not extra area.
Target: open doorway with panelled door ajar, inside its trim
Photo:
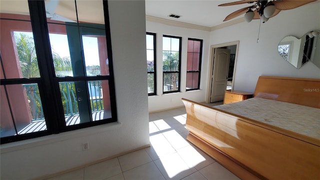
[[[222,101],[224,90],[234,88],[239,41],[211,45],[207,102]]]

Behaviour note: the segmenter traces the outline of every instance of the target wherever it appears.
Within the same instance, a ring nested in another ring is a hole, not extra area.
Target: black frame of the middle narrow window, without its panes
[[[173,35],[162,35],[162,42],[163,42],[163,37],[170,37],[170,38],[177,38],[179,39],[179,65],[178,65],[178,71],[163,71],[162,67],[162,93],[174,93],[174,92],[180,92],[180,84],[181,84],[181,51],[182,51],[182,37],[180,36],[173,36]],[[165,51],[162,49],[162,52]],[[162,55],[163,56],[163,55]],[[162,65],[163,65],[163,57],[162,57]],[[164,86],[164,74],[165,73],[178,73],[178,88],[177,90],[171,90],[171,91],[164,91],[163,86]]]

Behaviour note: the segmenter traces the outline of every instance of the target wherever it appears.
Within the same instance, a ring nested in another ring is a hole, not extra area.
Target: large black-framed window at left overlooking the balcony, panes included
[[[1,143],[116,121],[104,14],[104,0],[1,1]]]

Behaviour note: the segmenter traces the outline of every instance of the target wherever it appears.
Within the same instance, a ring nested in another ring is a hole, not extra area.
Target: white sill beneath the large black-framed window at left
[[[121,126],[120,122],[111,122],[107,124],[96,125],[92,127],[86,127],[86,128],[81,128],[81,129],[67,131],[67,132],[61,132],[58,134],[51,134],[51,135],[46,135],[42,137],[1,144],[0,150],[1,150],[1,153],[6,153],[6,152],[21,150],[25,148],[34,147],[34,146],[54,143],[62,140],[67,140],[75,137],[96,134],[96,133],[104,132],[110,129],[119,128],[120,126]]]

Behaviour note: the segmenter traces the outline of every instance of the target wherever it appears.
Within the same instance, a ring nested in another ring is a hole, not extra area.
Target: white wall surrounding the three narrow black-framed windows
[[[146,21],[146,31],[156,33],[156,69],[157,69],[157,95],[148,97],[148,110],[158,111],[162,109],[182,106],[181,98],[188,98],[194,101],[205,101],[207,88],[208,58],[209,58],[209,32],[184,27],[176,27],[165,25],[162,23]],[[162,35],[174,35],[182,37],[181,49],[181,82],[180,92],[162,94]],[[186,86],[186,55],[187,55],[187,39],[198,38],[203,39],[202,47],[202,65],[200,90],[185,91]]]

